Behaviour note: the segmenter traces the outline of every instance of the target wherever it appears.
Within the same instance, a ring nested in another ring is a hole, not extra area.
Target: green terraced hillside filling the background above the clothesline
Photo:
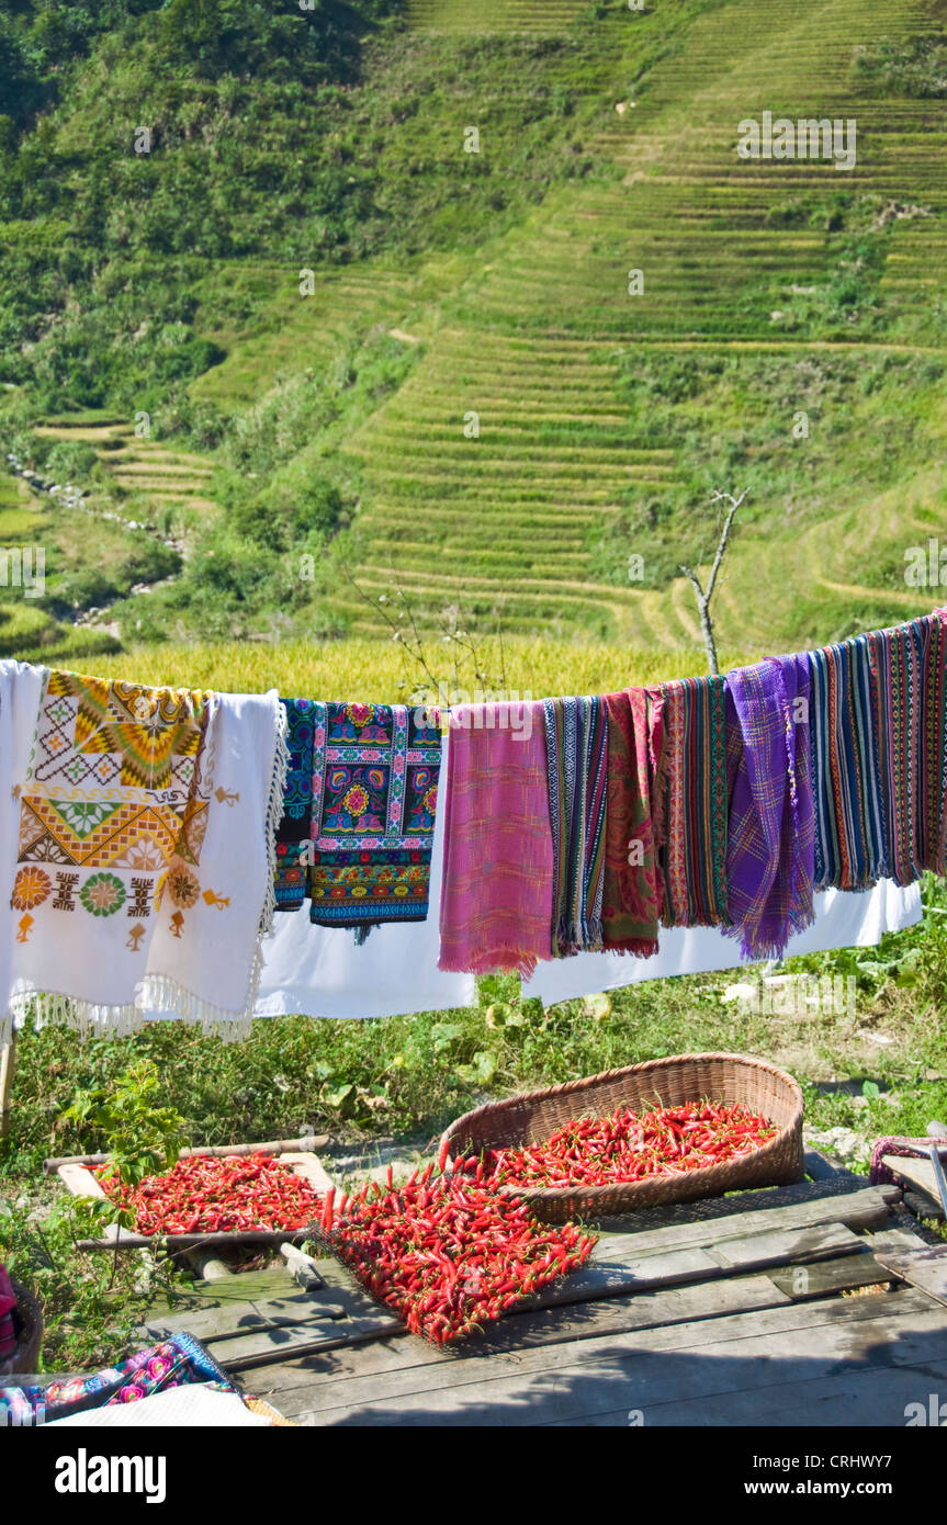
[[[671,651],[715,488],[749,490],[734,650],[939,598],[904,551],[945,506],[944,0],[337,9],[261,52],[241,0],[116,5],[11,117],[9,435],[41,464],[85,432],[91,511],[180,549],[76,608],[372,636],[401,593]],[[854,119],[856,166],[740,159],[764,111]]]

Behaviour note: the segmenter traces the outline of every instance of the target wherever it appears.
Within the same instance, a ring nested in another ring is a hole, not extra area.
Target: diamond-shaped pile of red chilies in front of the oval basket
[[[337,1212],[329,1191],[320,1222],[328,1247],[415,1334],[435,1345],[471,1334],[589,1258],[590,1234],[537,1223],[485,1182],[482,1161],[433,1170],[398,1191],[389,1170],[387,1186],[366,1183]]]

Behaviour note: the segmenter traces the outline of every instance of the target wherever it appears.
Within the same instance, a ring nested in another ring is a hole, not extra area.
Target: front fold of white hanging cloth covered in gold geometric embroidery
[[[11,906],[14,1005],[64,999],[134,1014],[172,865],[200,863],[213,730],[209,692],[46,676],[18,782]],[[178,871],[180,872],[180,871]],[[41,993],[41,994],[40,994]]]

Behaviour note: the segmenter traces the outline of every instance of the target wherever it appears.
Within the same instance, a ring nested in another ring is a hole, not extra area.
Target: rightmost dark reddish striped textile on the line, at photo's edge
[[[881,872],[910,884],[926,868],[945,869],[947,612],[865,639],[888,848]]]

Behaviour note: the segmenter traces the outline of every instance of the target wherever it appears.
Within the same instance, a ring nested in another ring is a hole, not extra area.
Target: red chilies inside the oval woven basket
[[[618,1107],[605,1118],[581,1118],[543,1144],[493,1150],[486,1157],[496,1186],[605,1186],[706,1170],[767,1144],[776,1128],[741,1101],[730,1107],[688,1101],[640,1116]]]

